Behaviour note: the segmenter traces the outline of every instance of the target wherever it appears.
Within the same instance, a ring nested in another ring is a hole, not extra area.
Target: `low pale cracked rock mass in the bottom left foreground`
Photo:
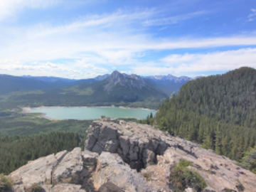
[[[64,188],[68,191],[79,191],[80,188],[94,191],[91,190],[94,187],[90,178],[97,158],[98,154],[81,151],[77,147],[70,152],[61,151],[30,161],[9,176],[14,181],[14,191],[26,191],[35,183],[47,189],[46,191],[65,191]]]

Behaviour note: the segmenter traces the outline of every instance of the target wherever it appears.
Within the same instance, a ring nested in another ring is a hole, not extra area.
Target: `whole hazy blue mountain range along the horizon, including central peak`
[[[96,78],[83,80],[0,75],[0,95],[41,90],[43,92],[59,92],[60,96],[71,95],[72,93],[75,95],[93,95],[95,101],[100,97],[101,99],[98,100],[102,102],[134,102],[145,100],[146,97],[169,97],[171,93],[178,92],[179,88],[189,80],[191,78],[177,78],[173,75],[141,77],[134,74],[119,73],[117,70],[110,75],[99,75]]]

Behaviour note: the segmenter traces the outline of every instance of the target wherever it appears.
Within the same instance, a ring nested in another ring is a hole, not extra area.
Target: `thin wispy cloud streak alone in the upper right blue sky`
[[[201,16],[202,14],[206,14],[206,11],[196,11],[189,14],[182,14],[178,16],[169,16],[164,18],[155,18],[151,20],[146,20],[143,22],[145,26],[166,26],[178,23],[180,21],[185,21],[196,16]]]

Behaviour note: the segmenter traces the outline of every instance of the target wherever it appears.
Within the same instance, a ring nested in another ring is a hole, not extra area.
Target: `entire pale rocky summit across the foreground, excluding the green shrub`
[[[255,191],[256,175],[225,156],[149,125],[103,117],[87,129],[85,150],[41,157],[12,172],[14,191],[176,191],[180,161],[206,186],[201,191]],[[200,191],[187,186],[184,191]]]

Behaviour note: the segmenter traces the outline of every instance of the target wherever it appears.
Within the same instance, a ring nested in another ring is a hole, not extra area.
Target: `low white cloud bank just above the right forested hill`
[[[256,68],[256,48],[228,50],[206,54],[169,55],[155,65],[134,66],[134,73],[140,75],[151,74],[189,74],[210,71],[234,70],[243,66]]]

